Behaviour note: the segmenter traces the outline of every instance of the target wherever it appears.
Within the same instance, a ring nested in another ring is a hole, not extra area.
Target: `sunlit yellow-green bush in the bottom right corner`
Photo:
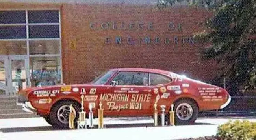
[[[256,122],[229,121],[219,125],[217,136],[222,140],[256,140]]]

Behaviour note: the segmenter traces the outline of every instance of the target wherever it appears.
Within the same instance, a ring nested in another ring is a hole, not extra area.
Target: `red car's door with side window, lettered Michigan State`
[[[120,71],[111,81],[112,93],[101,101],[111,116],[147,116],[152,107],[152,90],[148,87],[148,73]]]

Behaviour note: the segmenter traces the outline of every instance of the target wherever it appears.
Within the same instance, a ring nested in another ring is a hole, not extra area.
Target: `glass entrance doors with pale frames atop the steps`
[[[30,87],[27,56],[4,56],[2,59],[0,57],[0,62],[0,89],[5,89],[2,95],[13,96]]]

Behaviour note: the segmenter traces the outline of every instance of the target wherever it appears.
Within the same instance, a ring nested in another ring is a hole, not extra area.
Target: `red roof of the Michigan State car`
[[[110,69],[112,71],[143,71],[148,73],[161,73],[168,75],[171,71],[165,71],[161,69],[148,69],[148,68],[116,68],[116,69]]]

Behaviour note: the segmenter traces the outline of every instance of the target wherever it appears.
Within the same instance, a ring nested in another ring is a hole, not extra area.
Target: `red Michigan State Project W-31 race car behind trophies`
[[[92,105],[94,117],[98,115],[100,102],[104,117],[153,116],[155,103],[159,114],[160,106],[165,105],[168,116],[173,104],[176,125],[191,124],[198,112],[223,109],[231,101],[221,87],[170,71],[120,68],[110,69],[88,84],[25,89],[19,92],[18,103],[23,110],[37,113],[52,126],[68,128],[69,105],[74,105],[76,122],[81,111],[81,94],[85,95],[84,110],[88,113],[88,106]]]

